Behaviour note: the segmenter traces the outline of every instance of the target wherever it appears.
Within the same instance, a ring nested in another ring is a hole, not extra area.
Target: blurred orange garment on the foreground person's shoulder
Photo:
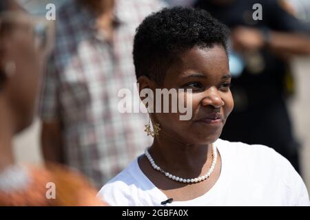
[[[27,183],[12,190],[0,189],[0,206],[107,206],[96,198],[96,190],[76,171],[54,164],[46,169],[20,168],[28,177]],[[53,199],[48,199],[49,183],[55,186]]]

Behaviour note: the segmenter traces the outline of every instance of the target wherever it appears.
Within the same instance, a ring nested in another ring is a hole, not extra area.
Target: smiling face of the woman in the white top
[[[152,114],[154,122],[161,124],[160,135],[189,145],[214,142],[234,108],[230,83],[228,58],[222,46],[194,47],[182,54],[180,61],[167,70],[162,88],[185,89],[179,96],[185,100],[192,96],[192,118],[180,120],[180,113]]]

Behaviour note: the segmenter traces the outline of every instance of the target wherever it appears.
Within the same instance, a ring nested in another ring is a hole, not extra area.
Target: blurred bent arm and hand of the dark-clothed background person
[[[265,28],[237,27],[232,30],[236,50],[267,47],[271,52],[285,56],[310,54],[310,27],[294,16],[296,12],[288,1],[268,1],[262,5],[262,10]]]

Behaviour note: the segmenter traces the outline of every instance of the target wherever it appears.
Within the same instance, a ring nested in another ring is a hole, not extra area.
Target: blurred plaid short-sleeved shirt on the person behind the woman
[[[163,6],[159,0],[117,0],[119,25],[112,44],[94,28],[95,18],[85,6],[70,1],[59,10],[40,114],[43,121],[63,124],[66,164],[81,170],[96,186],[151,144],[144,133],[147,115],[119,113],[117,95],[119,89],[132,90],[136,83],[132,60],[136,28]]]

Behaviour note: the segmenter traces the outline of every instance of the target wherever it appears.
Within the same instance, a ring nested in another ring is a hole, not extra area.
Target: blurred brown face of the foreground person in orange
[[[13,2],[9,11],[27,16]],[[43,54],[35,47],[31,23],[8,22],[8,27],[7,32],[1,32],[1,69],[5,69],[9,62],[16,68],[12,76],[3,82],[0,94],[8,100],[18,132],[30,125],[33,119],[43,71]]]

